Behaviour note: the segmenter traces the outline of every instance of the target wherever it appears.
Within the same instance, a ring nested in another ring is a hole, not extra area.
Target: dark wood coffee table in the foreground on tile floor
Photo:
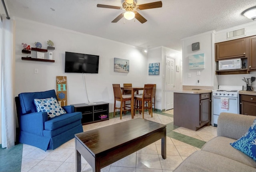
[[[166,159],[166,125],[142,118],[75,134],[76,172],[81,172],[81,155],[93,172],[161,139]]]

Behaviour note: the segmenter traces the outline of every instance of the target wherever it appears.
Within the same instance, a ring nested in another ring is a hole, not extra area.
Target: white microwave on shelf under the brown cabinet
[[[242,69],[241,59],[220,60],[219,70]]]

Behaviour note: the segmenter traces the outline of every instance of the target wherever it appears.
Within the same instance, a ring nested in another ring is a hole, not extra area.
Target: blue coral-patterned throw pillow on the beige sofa
[[[230,144],[256,161],[256,119],[244,136]]]

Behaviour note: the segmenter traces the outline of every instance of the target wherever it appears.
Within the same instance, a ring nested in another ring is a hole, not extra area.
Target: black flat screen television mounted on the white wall
[[[65,52],[65,73],[98,73],[99,56]]]

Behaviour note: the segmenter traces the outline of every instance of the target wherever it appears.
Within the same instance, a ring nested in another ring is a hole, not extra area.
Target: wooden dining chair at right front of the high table
[[[153,95],[154,84],[145,84],[142,95],[134,95],[135,107],[134,114],[138,110],[140,113],[142,111],[142,118],[144,118],[144,110],[148,109],[148,112],[153,117],[152,111],[152,95]],[[146,103],[148,102],[148,103]]]

